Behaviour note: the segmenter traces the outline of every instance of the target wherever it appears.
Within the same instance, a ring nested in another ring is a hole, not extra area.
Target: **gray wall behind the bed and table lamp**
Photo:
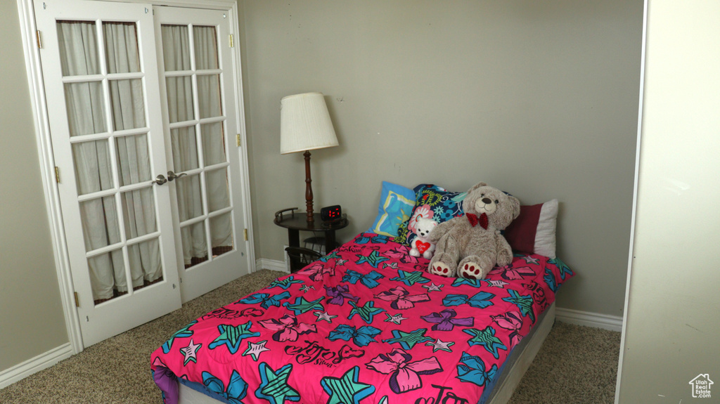
[[[577,272],[559,306],[622,316],[642,1],[242,3],[256,257],[282,260],[273,213],[305,206],[280,99],[320,91],[341,146],[312,152],[315,207],[343,206],[341,241],[372,224],[382,180],[558,198]]]

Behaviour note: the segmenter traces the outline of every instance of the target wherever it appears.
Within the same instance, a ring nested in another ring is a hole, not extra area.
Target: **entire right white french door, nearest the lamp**
[[[171,188],[183,301],[224,285],[246,262],[236,87],[227,12],[156,7],[168,155],[177,178]]]

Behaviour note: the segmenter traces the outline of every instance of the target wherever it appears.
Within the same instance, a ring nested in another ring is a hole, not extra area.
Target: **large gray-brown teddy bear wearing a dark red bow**
[[[467,191],[458,216],[435,226],[427,239],[436,244],[428,272],[449,277],[482,279],[495,265],[513,261],[500,230],[520,214],[520,201],[486,183]]]

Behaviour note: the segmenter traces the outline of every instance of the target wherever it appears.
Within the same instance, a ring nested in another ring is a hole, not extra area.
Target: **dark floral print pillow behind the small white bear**
[[[410,245],[417,237],[415,226],[420,217],[433,219],[440,224],[464,215],[462,201],[467,192],[451,192],[432,184],[420,184],[413,190],[415,191],[413,214],[410,215],[410,219],[400,224],[395,242]]]

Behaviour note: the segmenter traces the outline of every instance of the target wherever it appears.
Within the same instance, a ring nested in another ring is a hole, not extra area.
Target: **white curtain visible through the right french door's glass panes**
[[[192,71],[189,29],[185,25],[163,25],[161,27],[165,71]],[[194,50],[196,69],[218,68],[217,39],[215,27],[194,27]],[[220,109],[220,82],[212,78],[217,75],[197,75],[199,118],[222,115]],[[179,75],[166,80],[168,118],[171,123],[196,119],[194,111],[192,76]],[[203,96],[205,95],[205,96]],[[225,162],[225,141],[222,137],[222,123],[199,125],[202,132],[202,156],[204,166]],[[174,168],[180,173],[199,168],[197,126],[189,124],[171,130],[171,150]],[[225,172],[224,170],[222,171]],[[214,172],[210,172],[214,173]],[[207,205],[210,212],[230,206],[226,175],[205,176]],[[203,214],[200,176],[176,180],[176,192],[180,221],[196,218]],[[207,236],[203,222],[181,228],[183,258],[185,266],[207,259]],[[232,221],[230,215],[223,215],[211,221],[212,250],[217,247],[232,247]]]

